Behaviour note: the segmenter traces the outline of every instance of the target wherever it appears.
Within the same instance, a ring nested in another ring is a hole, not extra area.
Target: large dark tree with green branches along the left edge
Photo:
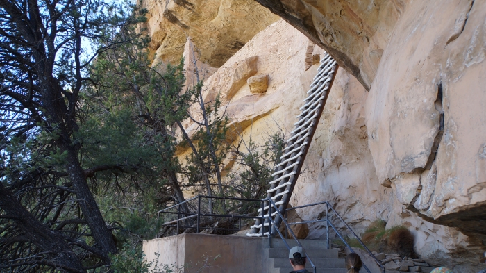
[[[157,172],[153,147],[140,149],[146,147],[144,132],[122,122],[128,115],[115,101],[122,97],[110,97],[108,108],[90,100],[101,90],[90,69],[117,65],[102,53],[142,49],[147,40],[121,37],[144,22],[146,10],[131,1],[109,2],[0,4],[0,214],[10,215],[0,217],[1,268],[81,272],[108,266],[108,252],[117,249],[94,197],[108,189],[132,194],[141,181],[133,177]],[[46,237],[49,244],[40,243]]]

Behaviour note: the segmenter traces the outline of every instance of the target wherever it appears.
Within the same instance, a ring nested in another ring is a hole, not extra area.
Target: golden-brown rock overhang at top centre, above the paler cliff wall
[[[252,0],[146,0],[146,30],[157,60],[178,62],[187,37],[201,62],[220,67],[278,17]]]

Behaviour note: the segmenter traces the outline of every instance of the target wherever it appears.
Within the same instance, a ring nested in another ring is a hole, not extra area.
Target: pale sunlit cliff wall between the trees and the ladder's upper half
[[[264,141],[268,132],[279,127],[285,133],[292,131],[300,106],[291,103],[303,101],[317,71],[317,65],[305,71],[308,44],[312,42],[285,22],[271,24],[206,78],[204,101],[219,94],[221,103],[228,105],[230,128],[235,137],[242,135],[245,141],[250,135],[253,141]],[[249,83],[253,85],[253,80],[248,80],[255,77],[268,78],[266,92],[251,92]],[[184,126],[192,131],[196,124],[187,121]]]

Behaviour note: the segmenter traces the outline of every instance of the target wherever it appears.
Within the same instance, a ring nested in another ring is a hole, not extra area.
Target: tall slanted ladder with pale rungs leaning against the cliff
[[[276,172],[272,174],[274,180],[270,182],[270,189],[267,190],[267,199],[274,201],[280,213],[285,212],[292,196],[292,191],[302,169],[303,160],[308,152],[330,88],[333,85],[337,67],[336,61],[328,53],[325,53],[317,74],[310,84],[308,96],[303,101],[304,105],[300,108],[301,114],[297,116],[299,121],[294,123],[292,136],[287,140],[287,147],[283,156],[280,157],[281,161],[276,167]],[[268,217],[270,215],[269,208],[271,208],[271,204],[266,201],[263,208],[258,210],[259,217]],[[275,226],[280,226],[282,221],[280,213],[278,211],[271,213],[271,217],[274,219],[272,222],[276,224],[272,225],[272,229],[275,229]],[[268,235],[269,226],[271,226],[269,220],[263,222],[256,220],[255,224],[251,226],[250,233],[246,235],[253,237]],[[271,234],[276,234],[275,230]]]

